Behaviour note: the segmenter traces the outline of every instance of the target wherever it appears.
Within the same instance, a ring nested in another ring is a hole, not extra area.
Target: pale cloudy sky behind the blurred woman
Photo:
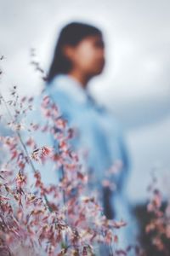
[[[169,0],[0,0],[0,89],[17,84],[37,94],[42,80],[31,66],[31,47],[48,72],[59,30],[72,20],[104,32],[105,71],[89,84],[127,131],[132,160],[128,194],[144,201],[150,170],[170,166]]]

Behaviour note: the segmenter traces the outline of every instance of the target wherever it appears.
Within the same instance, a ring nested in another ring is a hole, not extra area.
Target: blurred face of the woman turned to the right
[[[105,66],[105,45],[99,35],[88,36],[75,47],[67,46],[65,53],[71,59],[72,67],[88,76],[101,73]]]

